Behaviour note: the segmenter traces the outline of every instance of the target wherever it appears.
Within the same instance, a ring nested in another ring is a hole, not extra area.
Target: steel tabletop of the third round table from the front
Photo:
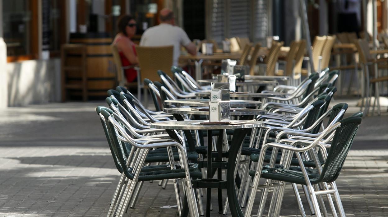
[[[163,104],[168,106],[196,106],[208,107],[209,99],[171,99],[163,101]],[[253,100],[231,99],[230,107],[251,107],[260,106],[262,102]]]

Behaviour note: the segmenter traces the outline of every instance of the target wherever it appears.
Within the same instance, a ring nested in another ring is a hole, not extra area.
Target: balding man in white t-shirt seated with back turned
[[[174,45],[173,65],[178,66],[180,45],[187,52],[196,55],[196,46],[191,42],[186,32],[175,25],[174,14],[170,9],[162,9],[159,12],[160,24],[145,30],[140,40],[140,46],[166,46]]]

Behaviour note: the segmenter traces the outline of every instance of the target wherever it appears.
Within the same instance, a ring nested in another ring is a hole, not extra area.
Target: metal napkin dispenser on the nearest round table
[[[209,102],[210,122],[230,122],[230,101]]]

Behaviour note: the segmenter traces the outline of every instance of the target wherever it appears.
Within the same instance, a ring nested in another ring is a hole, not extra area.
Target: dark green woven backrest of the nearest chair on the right
[[[350,116],[340,120],[341,125],[336,128],[322,174],[317,181],[333,182],[338,178],[361,120],[359,116]]]

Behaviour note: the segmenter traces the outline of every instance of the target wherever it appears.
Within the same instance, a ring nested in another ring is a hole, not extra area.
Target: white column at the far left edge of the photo
[[[0,23],[3,24],[3,0],[0,0]],[[0,109],[8,107],[7,45],[3,40],[3,25],[0,25]]]

